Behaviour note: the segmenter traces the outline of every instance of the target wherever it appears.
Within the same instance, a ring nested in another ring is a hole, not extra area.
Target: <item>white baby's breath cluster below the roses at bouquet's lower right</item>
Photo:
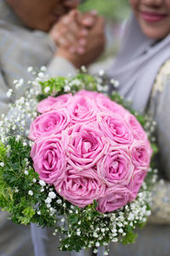
[[[91,240],[87,239],[85,248],[94,247],[94,253],[98,253],[98,247],[109,246],[109,242],[105,241],[105,237],[109,236],[112,242],[121,241],[123,236],[127,235],[125,231],[127,226],[131,226],[134,229],[136,224],[143,224],[148,216],[150,216],[151,212],[146,207],[150,205],[150,203],[151,193],[147,191],[145,185],[145,189],[139,193],[136,200],[126,207],[122,207],[116,212],[105,213],[95,217],[94,224],[91,226],[88,233],[84,234],[83,230],[80,228],[81,221],[77,222],[77,224],[75,224],[76,234],[77,236],[91,237]],[[69,212],[71,213],[72,210],[74,210],[74,206],[71,206]],[[83,210],[83,212],[85,211],[86,210]],[[64,222],[64,220],[61,219],[61,222]],[[64,227],[62,229],[65,230]],[[71,237],[69,232],[68,237]],[[108,255],[107,249],[104,255]]]

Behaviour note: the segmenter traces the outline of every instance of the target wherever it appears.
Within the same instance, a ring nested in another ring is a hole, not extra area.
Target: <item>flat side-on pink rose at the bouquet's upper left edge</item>
[[[65,94],[57,97],[48,96],[47,99],[39,102],[37,105],[37,111],[39,113],[44,113],[53,109],[65,108],[69,104],[71,98],[71,94]]]

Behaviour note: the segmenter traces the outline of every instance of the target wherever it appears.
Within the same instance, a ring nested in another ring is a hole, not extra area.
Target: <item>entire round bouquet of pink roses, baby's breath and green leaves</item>
[[[107,255],[110,241],[133,242],[150,215],[156,123],[115,91],[106,96],[101,72],[48,79],[44,71],[29,68],[28,86],[14,81],[25,96],[0,121],[0,207],[14,223],[62,233],[60,250],[105,246]]]

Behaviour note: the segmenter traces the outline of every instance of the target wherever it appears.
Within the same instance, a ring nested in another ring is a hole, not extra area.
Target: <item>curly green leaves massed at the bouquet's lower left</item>
[[[8,141],[10,150],[4,155],[4,146],[1,145],[1,157],[4,166],[0,167],[0,207],[11,213],[11,219],[16,224],[45,224],[54,225],[54,218],[49,217],[44,200],[48,197],[48,190],[44,193],[40,190],[39,183],[34,183],[33,178],[38,181],[38,174],[29,166],[30,146],[24,146],[22,141],[16,141],[11,137]],[[26,175],[28,172],[28,175]],[[34,196],[28,194],[31,190]],[[34,207],[39,205],[42,216],[39,218]],[[43,215],[44,212],[44,215]]]

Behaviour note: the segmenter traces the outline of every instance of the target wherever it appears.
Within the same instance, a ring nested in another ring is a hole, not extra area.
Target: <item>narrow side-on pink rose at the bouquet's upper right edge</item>
[[[127,122],[128,127],[133,133],[133,137],[136,140],[145,140],[147,139],[146,133],[142,127],[142,125],[139,124],[139,121],[133,116],[131,113],[127,113],[125,115],[125,120]]]

